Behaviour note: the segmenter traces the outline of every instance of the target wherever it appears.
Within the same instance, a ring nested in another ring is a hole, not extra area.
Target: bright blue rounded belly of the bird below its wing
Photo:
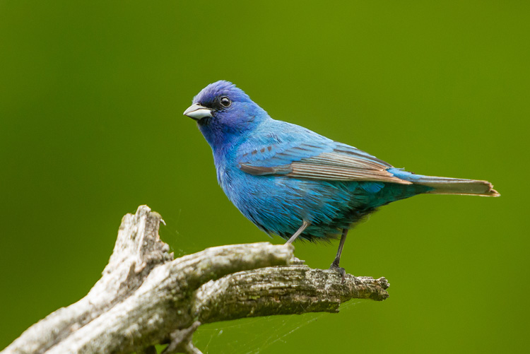
[[[342,228],[387,203],[359,182],[323,182],[223,172],[219,182],[230,201],[265,232],[288,238],[307,220],[308,240],[334,238]]]

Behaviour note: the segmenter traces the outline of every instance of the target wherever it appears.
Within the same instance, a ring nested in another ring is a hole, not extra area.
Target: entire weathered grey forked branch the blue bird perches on
[[[273,314],[338,312],[352,298],[384,300],[386,279],[293,262],[293,247],[234,244],[173,259],[160,215],[140,206],[119,228],[102,278],[86,297],[26,330],[1,353],[200,353],[202,323]]]

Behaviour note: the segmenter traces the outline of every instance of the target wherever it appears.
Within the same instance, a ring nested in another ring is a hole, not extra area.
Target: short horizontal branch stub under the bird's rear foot
[[[306,312],[338,312],[342,302],[384,300],[385,278],[341,278],[336,271],[278,266],[230,274],[197,290],[193,313],[201,323]]]

